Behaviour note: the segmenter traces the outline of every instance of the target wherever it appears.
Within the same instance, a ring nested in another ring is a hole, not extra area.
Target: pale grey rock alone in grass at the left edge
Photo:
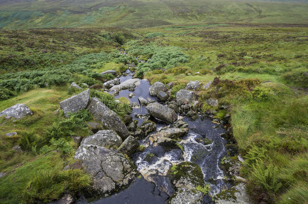
[[[33,112],[25,104],[18,103],[0,112],[0,116],[4,116],[4,115],[6,115],[6,118],[13,117],[13,118],[21,119],[25,117],[26,115],[33,115]]]

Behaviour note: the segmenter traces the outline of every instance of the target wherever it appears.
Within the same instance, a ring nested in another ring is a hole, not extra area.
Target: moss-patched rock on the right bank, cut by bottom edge
[[[252,203],[249,200],[244,183],[239,183],[238,185],[231,187],[229,190],[222,191],[217,194],[214,199],[217,204]]]

